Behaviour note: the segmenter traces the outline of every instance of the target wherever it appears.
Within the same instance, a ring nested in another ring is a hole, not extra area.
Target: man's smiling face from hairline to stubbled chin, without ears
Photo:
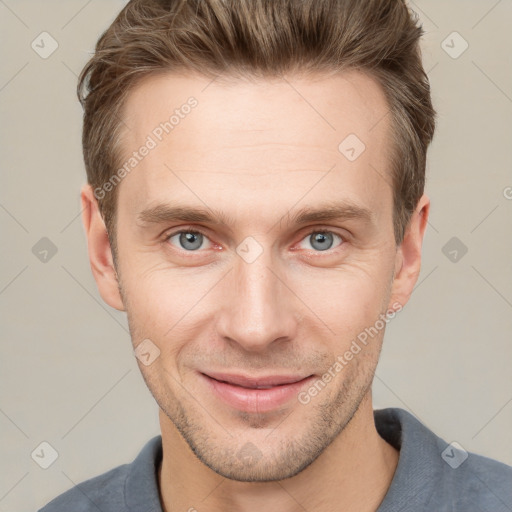
[[[166,74],[128,98],[126,160],[148,135],[156,146],[118,185],[122,299],[134,346],[160,351],[139,366],[163,421],[223,476],[282,479],[313,462],[370,394],[384,329],[333,365],[393,303],[390,116],[357,72],[210,82]],[[190,97],[197,104],[180,110]],[[176,109],[179,122],[161,133]],[[178,207],[211,221],[169,215]],[[297,223],[327,207],[339,217]],[[312,377],[287,392],[208,374]]]

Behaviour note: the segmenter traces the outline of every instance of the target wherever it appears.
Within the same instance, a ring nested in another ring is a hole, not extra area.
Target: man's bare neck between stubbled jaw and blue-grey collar
[[[237,482],[200,462],[160,411],[163,460],[158,470],[164,512],[374,512],[398,463],[398,451],[378,434],[371,392],[346,428],[301,473],[274,482]]]

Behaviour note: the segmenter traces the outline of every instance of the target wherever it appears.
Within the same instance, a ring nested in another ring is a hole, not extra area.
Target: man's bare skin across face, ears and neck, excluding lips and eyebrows
[[[100,294],[127,312],[134,347],[149,338],[160,350],[138,364],[160,407],[163,509],[374,511],[399,457],[373,420],[385,329],[308,404],[241,412],[198,371],[321,378],[380,314],[407,303],[430,201],[420,199],[397,247],[384,94],[357,71],[149,77],[125,105],[125,156],[190,96],[197,107],[119,185],[117,268],[93,191],[82,189]],[[352,162],[338,150],[351,133],[366,146]],[[329,201],[365,207],[372,222],[291,223],[300,208]],[[227,223],[139,219],[159,203],[206,205]],[[165,239],[190,228],[205,234],[198,249]],[[320,228],[334,233],[325,251],[310,236]],[[262,249],[252,263],[236,252],[246,237]],[[247,446],[253,463],[241,457]]]

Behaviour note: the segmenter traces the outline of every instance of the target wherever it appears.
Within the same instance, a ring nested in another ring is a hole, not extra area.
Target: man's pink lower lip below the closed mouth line
[[[300,390],[308,385],[314,376],[291,384],[282,384],[268,389],[250,389],[227,382],[220,382],[201,374],[213,393],[225,403],[245,412],[269,412],[297,398]]]

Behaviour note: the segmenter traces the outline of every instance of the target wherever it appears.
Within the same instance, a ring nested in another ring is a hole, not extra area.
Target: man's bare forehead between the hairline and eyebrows
[[[345,196],[389,207],[387,114],[378,83],[357,71],[254,81],[149,77],[124,106],[121,165],[134,165],[125,165],[119,213],[173,201],[214,201],[247,215],[269,204],[279,213],[282,204],[284,213],[301,198],[306,206]]]

